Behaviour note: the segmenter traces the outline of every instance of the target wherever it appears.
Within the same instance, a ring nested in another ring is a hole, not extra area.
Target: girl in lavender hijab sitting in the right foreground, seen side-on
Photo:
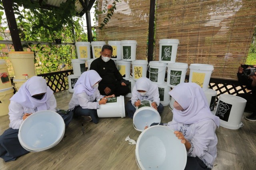
[[[211,169],[217,156],[219,117],[211,113],[204,91],[196,83],[180,83],[169,94],[175,99],[173,119],[164,125],[186,147],[185,170]]]

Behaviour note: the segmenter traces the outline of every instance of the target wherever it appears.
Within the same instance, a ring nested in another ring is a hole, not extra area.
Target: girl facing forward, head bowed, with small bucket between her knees
[[[140,106],[140,100],[150,100],[151,106],[162,113],[164,106],[160,104],[158,86],[151,82],[148,78],[142,77],[136,81],[135,86],[132,89],[132,98],[125,106],[128,116],[133,118],[136,107]]]

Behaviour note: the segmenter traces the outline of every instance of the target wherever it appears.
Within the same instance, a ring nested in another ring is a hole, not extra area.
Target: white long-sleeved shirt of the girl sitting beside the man
[[[74,93],[68,107],[69,109],[74,109],[74,107],[79,105],[83,109],[98,109],[100,107],[99,102],[94,101],[103,97],[104,96],[100,95],[99,90],[96,90],[92,96],[88,96],[86,92],[79,94]]]

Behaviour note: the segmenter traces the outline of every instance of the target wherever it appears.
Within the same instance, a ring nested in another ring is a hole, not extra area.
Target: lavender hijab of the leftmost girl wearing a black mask
[[[41,100],[32,96],[36,94],[46,93]],[[10,100],[21,104],[28,108],[38,108],[39,110],[47,110],[47,101],[52,96],[53,91],[47,86],[46,80],[40,76],[29,78],[16,92]]]

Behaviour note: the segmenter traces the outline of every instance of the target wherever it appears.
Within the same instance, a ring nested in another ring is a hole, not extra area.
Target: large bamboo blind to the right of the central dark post
[[[212,64],[212,77],[236,79],[238,66],[246,62],[252,43],[255,0],[157,0],[156,3],[156,61],[160,39],[179,39],[176,62]]]

